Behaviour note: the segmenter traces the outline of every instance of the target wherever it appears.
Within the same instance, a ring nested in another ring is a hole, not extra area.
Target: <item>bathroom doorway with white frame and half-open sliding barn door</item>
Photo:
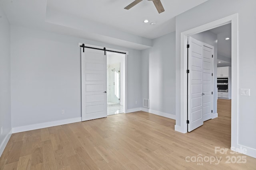
[[[114,77],[115,99],[122,108],[117,113],[126,113],[127,109],[127,56],[128,51],[78,43],[81,51],[81,115],[82,121],[99,119],[108,114],[107,96],[107,55],[112,56],[114,63],[109,63]],[[118,56],[118,61],[114,60]],[[111,59],[109,59],[111,62]],[[111,65],[113,64],[113,65]],[[109,97],[110,98],[110,97]],[[113,100],[114,101],[114,100]],[[121,111],[122,109],[122,111]],[[113,113],[112,113],[113,114]]]

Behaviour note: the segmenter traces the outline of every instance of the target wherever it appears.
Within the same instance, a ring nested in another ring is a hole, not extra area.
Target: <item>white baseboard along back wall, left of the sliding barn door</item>
[[[58,125],[65,125],[68,123],[76,123],[79,121],[82,121],[81,117],[58,120],[58,121],[50,121],[50,122],[44,122],[44,123],[37,123],[37,124],[32,124],[32,125],[20,126],[20,127],[13,127],[12,133],[31,131],[31,130],[35,130],[35,129],[42,129],[42,128],[58,126]]]

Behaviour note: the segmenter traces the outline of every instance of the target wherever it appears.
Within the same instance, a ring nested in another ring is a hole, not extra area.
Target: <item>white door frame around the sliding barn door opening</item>
[[[82,45],[83,43],[78,43],[78,47],[79,47],[79,50],[80,50],[80,46]],[[90,44],[85,44],[84,45],[86,47],[94,47],[94,48],[99,48],[99,49],[103,49],[104,47],[101,47],[101,46],[96,46],[96,45],[90,45]],[[111,48],[106,48],[106,50],[111,50],[111,51],[118,51],[118,52],[122,52],[122,53],[126,53],[125,55],[125,59],[124,59],[124,71],[125,71],[125,76],[124,76],[124,113],[127,113],[127,56],[129,55],[129,52],[128,51],[123,51],[123,50],[118,50],[118,49],[111,49]],[[81,50],[80,50],[81,51]],[[81,56],[81,55],[80,55]],[[80,61],[81,62],[81,61]],[[81,66],[81,64],[80,64]],[[80,68],[81,69],[81,68]],[[106,68],[107,69],[107,68]],[[81,72],[80,72],[81,73]],[[81,75],[80,75],[81,76]],[[81,77],[81,80],[82,80],[82,77]],[[82,87],[81,87],[82,89]],[[81,95],[82,95],[82,90],[81,90]],[[81,100],[82,100],[82,96],[81,96]],[[82,106],[81,106],[82,107]],[[82,117],[82,109],[81,109],[81,117]],[[81,118],[82,119],[82,118]]]

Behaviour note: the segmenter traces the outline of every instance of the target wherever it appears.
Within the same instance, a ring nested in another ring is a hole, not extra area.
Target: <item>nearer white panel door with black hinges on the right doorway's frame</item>
[[[188,65],[188,131],[204,124],[202,114],[202,80],[203,80],[203,47],[204,44],[189,37]]]

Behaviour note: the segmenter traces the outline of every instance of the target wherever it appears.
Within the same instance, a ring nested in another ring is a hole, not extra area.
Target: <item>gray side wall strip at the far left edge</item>
[[[10,24],[0,8],[0,155],[12,129],[10,99]]]

